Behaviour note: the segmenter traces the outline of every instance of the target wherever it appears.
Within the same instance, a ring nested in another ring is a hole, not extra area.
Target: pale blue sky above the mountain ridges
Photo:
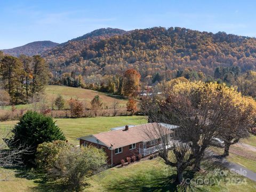
[[[99,28],[186,27],[256,37],[256,1],[0,0],[0,49]]]

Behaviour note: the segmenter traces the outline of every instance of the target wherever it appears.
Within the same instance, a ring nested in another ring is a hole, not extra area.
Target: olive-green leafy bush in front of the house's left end
[[[70,191],[78,191],[85,178],[97,173],[106,161],[105,152],[95,147],[62,148],[48,174],[51,178],[68,184],[72,189]]]

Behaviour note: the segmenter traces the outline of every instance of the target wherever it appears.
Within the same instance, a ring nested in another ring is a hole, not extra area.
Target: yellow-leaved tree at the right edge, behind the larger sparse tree
[[[243,97],[234,88],[222,88],[223,100],[226,100],[226,111],[223,116],[222,132],[218,135],[224,141],[225,149],[223,156],[229,155],[231,145],[237,143],[240,139],[249,137],[250,128],[256,121],[256,101],[250,97]]]

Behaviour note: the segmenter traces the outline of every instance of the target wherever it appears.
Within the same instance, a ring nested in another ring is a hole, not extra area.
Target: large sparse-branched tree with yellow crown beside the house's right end
[[[234,94],[230,94],[233,91],[234,89],[225,84],[180,82],[172,87],[165,99],[146,103],[147,106],[142,108],[146,114],[150,114],[152,122],[179,126],[174,134],[174,148],[171,149],[176,162],[170,161],[168,151],[165,149],[159,152],[167,165],[182,165],[177,167],[179,182],[182,180],[179,175],[182,175],[186,167],[194,165],[194,170],[200,170],[201,161],[207,160],[205,155],[214,137],[221,137],[220,135],[225,137],[226,134],[230,135],[229,131],[232,132],[230,126],[234,126],[232,122],[238,113],[234,116],[229,113],[232,114],[237,105],[232,104],[232,98],[227,95],[234,98]],[[239,98],[238,101],[241,99]],[[238,116],[234,123],[246,117],[247,113],[240,110]],[[230,123],[232,124],[229,125]],[[248,126],[248,122],[243,121],[242,125]]]

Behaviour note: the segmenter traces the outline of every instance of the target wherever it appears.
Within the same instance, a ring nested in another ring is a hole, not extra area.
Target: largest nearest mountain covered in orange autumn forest
[[[238,67],[236,70],[242,73],[256,69],[256,39],[251,37],[154,27],[99,39],[88,41],[84,50],[76,54],[62,54],[56,70],[60,74],[73,71],[82,74],[86,82],[95,82],[101,81],[102,76],[135,68],[142,81],[150,82],[157,73],[165,79],[197,78],[197,72],[213,76],[217,67]]]

